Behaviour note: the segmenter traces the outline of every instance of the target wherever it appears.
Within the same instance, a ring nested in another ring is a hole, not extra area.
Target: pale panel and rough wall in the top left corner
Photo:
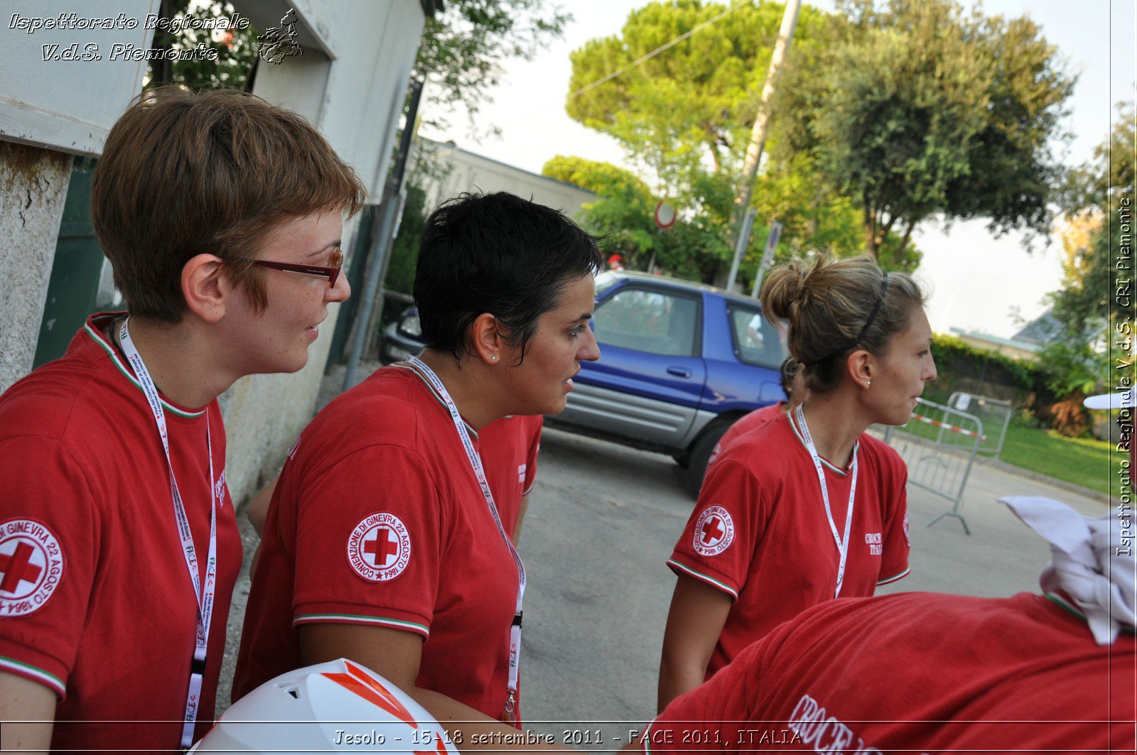
[[[92,8],[98,11],[92,11]],[[107,132],[142,89],[144,63],[111,60],[115,43],[149,47],[158,0],[7,0],[0,18],[0,391],[32,368],[72,156],[98,155]],[[140,19],[133,30],[36,28],[38,19]],[[25,19],[27,19],[25,25]],[[14,27],[15,26],[15,27]],[[23,26],[23,27],[22,27]],[[47,50],[44,45],[48,45]],[[53,48],[51,45],[58,45]],[[55,60],[72,45],[101,59]],[[44,59],[44,57],[48,59]]]

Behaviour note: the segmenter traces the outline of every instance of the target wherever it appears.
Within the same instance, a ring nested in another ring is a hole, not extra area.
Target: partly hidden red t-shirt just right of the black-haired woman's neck
[[[514,537],[521,499],[537,481],[537,454],[541,450],[541,425],[545,417],[512,416],[491,422],[479,437],[479,449],[485,479],[493,491],[501,526]]]

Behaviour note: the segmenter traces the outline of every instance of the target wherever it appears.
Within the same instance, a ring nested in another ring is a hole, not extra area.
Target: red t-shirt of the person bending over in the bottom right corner
[[[1095,645],[1038,595],[831,600],[673,700],[645,749],[1132,753],[1135,667],[1131,631]]]

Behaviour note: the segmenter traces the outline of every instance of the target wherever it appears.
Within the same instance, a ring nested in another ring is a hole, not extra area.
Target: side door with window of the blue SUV
[[[557,420],[645,443],[680,448],[699,408],[702,299],[632,282],[592,315],[600,360],[581,365]]]

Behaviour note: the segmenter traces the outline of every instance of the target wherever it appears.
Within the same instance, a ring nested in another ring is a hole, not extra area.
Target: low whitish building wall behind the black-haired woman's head
[[[420,148],[432,155],[431,159],[440,168],[438,172],[445,174],[441,180],[426,174],[416,177],[426,193],[428,211],[464,191],[508,191],[559,209],[568,217],[576,217],[582,205],[596,201],[595,193],[580,186],[498,163],[451,144],[423,139]]]

